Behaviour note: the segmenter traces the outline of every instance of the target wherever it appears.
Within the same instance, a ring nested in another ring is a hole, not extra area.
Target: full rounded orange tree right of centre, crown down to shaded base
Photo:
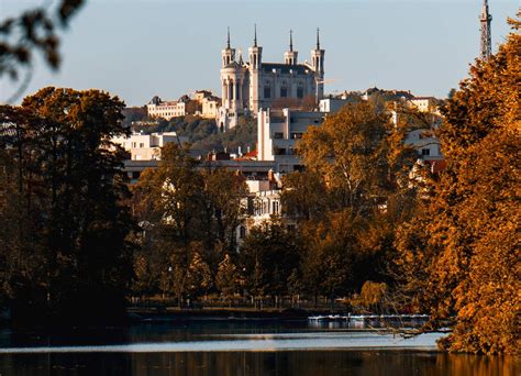
[[[299,221],[302,278],[315,297],[333,302],[367,278],[389,279],[393,231],[415,199],[408,185],[415,153],[403,140],[417,125],[404,108],[392,109],[396,125],[386,106],[348,103],[297,145],[306,169],[285,178],[282,207]]]

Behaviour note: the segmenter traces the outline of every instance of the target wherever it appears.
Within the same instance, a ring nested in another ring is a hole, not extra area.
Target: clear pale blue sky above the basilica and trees
[[[0,19],[52,0],[0,0]],[[55,1],[56,3],[57,1]],[[289,30],[299,62],[310,60],[317,27],[328,93],[384,89],[446,97],[479,51],[481,0],[87,0],[63,32],[58,71],[37,62],[25,95],[46,86],[97,88],[128,106],[175,100],[198,89],[220,93],[221,49],[247,48],[257,24],[264,62],[284,62]],[[489,0],[492,49],[509,33],[518,0]],[[0,102],[18,84],[0,78]],[[219,89],[219,91],[218,91]],[[20,102],[20,100],[18,100]]]

